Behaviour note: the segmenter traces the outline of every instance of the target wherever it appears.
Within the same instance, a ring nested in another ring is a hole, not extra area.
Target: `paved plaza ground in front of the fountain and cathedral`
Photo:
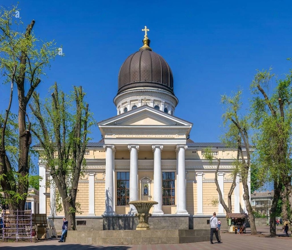
[[[0,242],[2,250],[207,250],[207,249],[254,249],[254,250],[274,250],[274,249],[291,249],[292,238],[286,237],[277,227],[277,235],[279,237],[266,237],[269,235],[268,227],[257,228],[259,235],[250,235],[247,230],[245,235],[236,235],[227,233],[222,230],[221,244],[210,242],[184,243],[184,244],[145,244],[145,245],[90,245],[90,244],[72,244],[69,242],[59,243],[59,238],[52,238],[39,242]],[[289,235],[290,236],[290,235]]]

